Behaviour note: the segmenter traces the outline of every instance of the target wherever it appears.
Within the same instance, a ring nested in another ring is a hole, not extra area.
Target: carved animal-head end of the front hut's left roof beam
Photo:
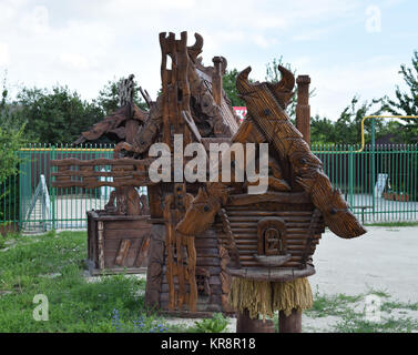
[[[198,189],[183,220],[176,225],[176,231],[185,235],[201,234],[215,220],[221,203],[215,196],[210,196],[205,189]]]

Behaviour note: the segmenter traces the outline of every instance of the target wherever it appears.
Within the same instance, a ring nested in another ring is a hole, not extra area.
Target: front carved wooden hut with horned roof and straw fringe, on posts
[[[248,82],[251,68],[238,74],[236,87],[248,114],[231,139],[231,144],[268,143],[267,192],[243,193],[248,182],[243,186],[206,183],[176,226],[183,234],[217,229],[231,258],[230,302],[237,308],[239,332],[266,331],[257,315],[274,311],[279,311],[282,332],[300,331],[298,311],[312,306],[306,276],[315,273],[312,255],[324,226],[343,239],[366,232],[310,152],[305,141],[308,131],[304,138],[285,112],[295,79],[285,68],[278,69],[283,75],[278,83]],[[306,83],[303,79],[300,87]],[[297,112],[299,121],[309,113],[306,101]]]

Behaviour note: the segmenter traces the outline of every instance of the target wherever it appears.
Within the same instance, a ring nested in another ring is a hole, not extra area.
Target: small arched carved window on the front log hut
[[[258,255],[286,254],[286,224],[279,217],[266,217],[257,223]]]

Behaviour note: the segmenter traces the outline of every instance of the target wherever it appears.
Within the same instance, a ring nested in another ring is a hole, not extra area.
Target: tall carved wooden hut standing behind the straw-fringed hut
[[[174,33],[160,33],[162,95],[150,111],[149,131],[142,132],[140,146],[132,151],[142,153],[151,143],[164,142],[173,152],[175,134],[183,136],[181,150],[192,142],[207,149],[210,143],[230,142],[238,129],[222,89],[226,60],[215,57],[213,67],[204,67],[197,58],[203,38],[196,33],[192,47],[186,41],[186,32],[180,40]],[[172,64],[167,69],[169,57]],[[186,163],[191,158],[181,160]],[[227,303],[227,254],[220,248],[215,231],[183,235],[175,230],[200,186],[200,182],[163,182],[149,187],[153,226],[145,302],[162,313],[205,316],[233,312]]]

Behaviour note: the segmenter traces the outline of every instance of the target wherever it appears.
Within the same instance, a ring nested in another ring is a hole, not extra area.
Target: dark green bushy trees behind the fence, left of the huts
[[[29,141],[70,144],[81,132],[119,108],[118,84],[119,81],[109,81],[91,102],[68,87],[22,88],[17,100],[8,103],[8,109],[13,112],[16,122],[26,122],[24,135]],[[134,102],[146,108],[137,90]]]

